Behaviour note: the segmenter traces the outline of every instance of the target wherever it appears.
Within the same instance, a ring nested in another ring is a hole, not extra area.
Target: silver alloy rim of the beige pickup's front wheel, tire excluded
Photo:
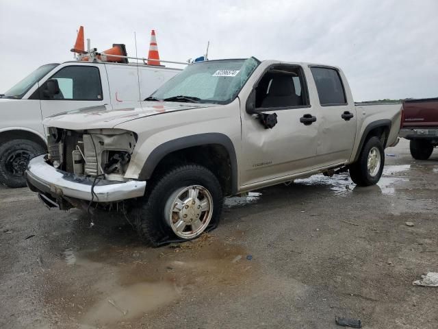
[[[191,185],[170,195],[164,217],[173,232],[182,239],[192,239],[207,228],[213,215],[213,199],[207,188]]]

